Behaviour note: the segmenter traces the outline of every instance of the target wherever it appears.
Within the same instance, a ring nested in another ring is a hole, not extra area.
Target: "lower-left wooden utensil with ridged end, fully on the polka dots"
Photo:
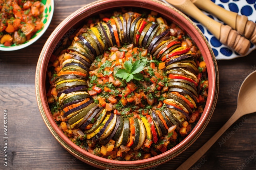
[[[228,25],[223,25],[206,16],[190,0],[166,0],[181,12],[195,18],[203,24],[222,44],[233,48],[237,53],[245,55],[250,48],[250,41],[242,37]],[[255,31],[254,31],[255,32]],[[254,37],[256,39],[256,37]]]

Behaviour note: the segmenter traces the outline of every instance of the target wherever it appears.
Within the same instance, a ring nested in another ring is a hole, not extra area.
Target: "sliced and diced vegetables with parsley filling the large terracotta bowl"
[[[49,65],[56,123],[76,145],[104,158],[146,159],[174,147],[207,98],[197,47],[156,12],[144,16],[89,19]]]

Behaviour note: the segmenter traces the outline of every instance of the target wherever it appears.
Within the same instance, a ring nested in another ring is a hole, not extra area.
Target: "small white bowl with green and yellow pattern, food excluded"
[[[35,35],[33,35],[30,40],[26,41],[23,44],[12,44],[11,46],[7,47],[4,46],[3,44],[0,44],[0,51],[14,51],[14,50],[19,50],[22,48],[25,48],[34,42],[36,42],[47,30],[47,28],[50,25],[52,16],[53,16],[53,9],[54,9],[54,0],[42,0],[42,4],[44,4],[44,12],[43,17],[42,17],[42,22],[44,23],[43,27],[41,30],[38,30]]]

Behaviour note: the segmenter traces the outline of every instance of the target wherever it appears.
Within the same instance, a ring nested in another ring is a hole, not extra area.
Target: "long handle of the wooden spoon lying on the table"
[[[183,162],[176,170],[187,170],[193,166],[210,148],[211,146],[226,132],[226,130],[238,119],[240,115],[237,111],[229,118],[229,120],[218,130],[218,132],[211,137],[200,149],[191,155],[185,162]]]

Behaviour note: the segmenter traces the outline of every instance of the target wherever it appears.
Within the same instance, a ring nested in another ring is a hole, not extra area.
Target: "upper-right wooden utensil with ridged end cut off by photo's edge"
[[[208,11],[230,25],[234,30],[256,44],[256,23],[248,21],[248,17],[227,11],[211,0],[191,0],[198,8]]]

